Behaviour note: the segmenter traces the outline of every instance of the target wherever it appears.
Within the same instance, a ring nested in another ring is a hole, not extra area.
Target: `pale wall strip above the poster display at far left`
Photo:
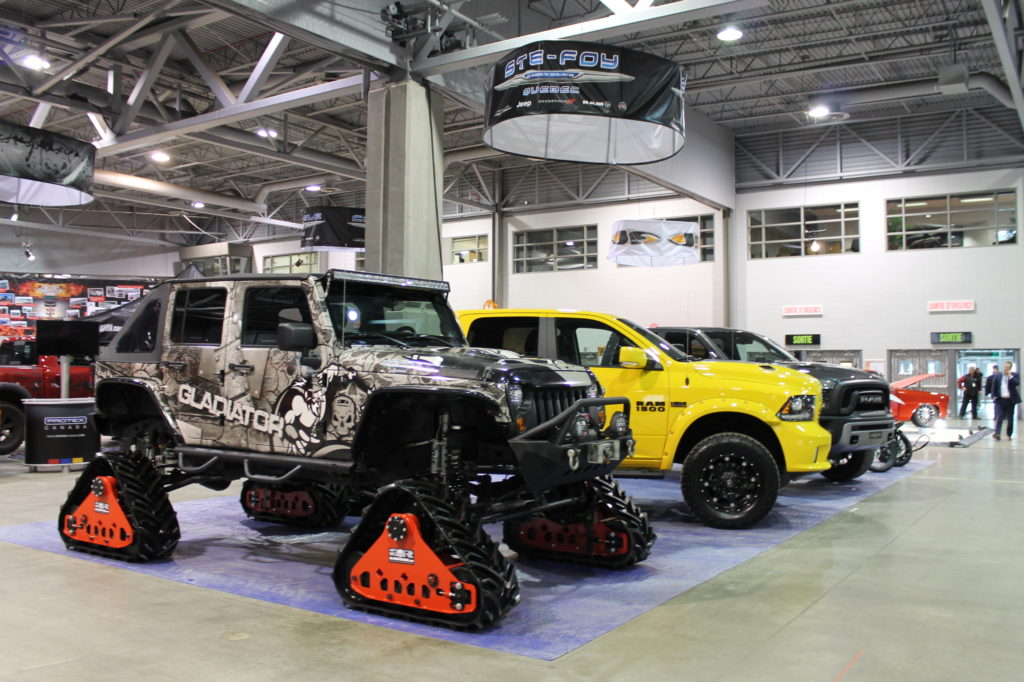
[[[32,243],[35,260],[25,257],[23,242]],[[0,230],[0,272],[169,278],[177,260],[177,247],[38,229],[25,230],[20,237],[13,228]]]

